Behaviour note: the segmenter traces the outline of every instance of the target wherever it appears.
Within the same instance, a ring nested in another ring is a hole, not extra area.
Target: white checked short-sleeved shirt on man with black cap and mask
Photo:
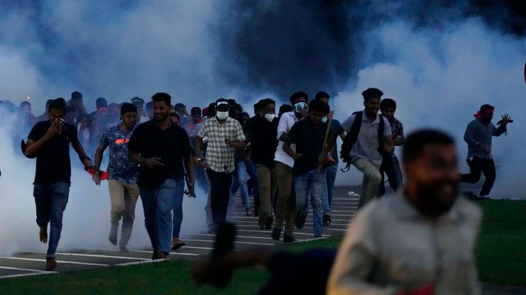
[[[206,150],[206,162],[208,167],[215,172],[233,172],[235,148],[227,145],[225,139],[231,141],[245,141],[245,134],[238,121],[227,117],[223,124],[220,124],[217,117],[203,123],[197,137],[208,137],[208,147]]]

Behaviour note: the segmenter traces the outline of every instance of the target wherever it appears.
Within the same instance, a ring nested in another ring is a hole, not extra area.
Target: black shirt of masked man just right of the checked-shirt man
[[[277,148],[277,124],[279,119],[275,118],[268,122],[265,118],[254,117],[251,119],[252,154],[251,160],[254,164],[265,165],[273,169],[274,155]]]

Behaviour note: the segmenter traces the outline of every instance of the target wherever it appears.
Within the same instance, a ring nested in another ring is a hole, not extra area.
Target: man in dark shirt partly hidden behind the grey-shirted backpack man
[[[403,125],[402,122],[395,118],[397,102],[391,98],[384,98],[380,102],[380,111],[381,115],[387,118],[389,125],[391,126],[393,144],[395,146],[403,145],[405,142],[405,138],[403,137]],[[397,191],[397,189],[403,184],[403,176],[400,169],[400,163],[398,161],[397,155],[395,155],[394,149],[390,154],[382,153],[380,165],[381,182],[378,186],[378,197],[381,197],[386,193],[386,187],[384,185],[384,173],[388,177],[389,186],[393,191]]]

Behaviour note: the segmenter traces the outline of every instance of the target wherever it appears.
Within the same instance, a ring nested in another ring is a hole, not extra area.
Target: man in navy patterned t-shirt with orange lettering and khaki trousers
[[[123,219],[121,242],[118,249],[128,252],[127,244],[132,236],[135,220],[135,205],[139,197],[137,180],[139,165],[128,159],[128,141],[138,121],[137,108],[134,104],[125,103],[121,107],[121,124],[113,126],[101,137],[99,147],[95,152],[95,167],[93,176],[95,184],[101,184],[99,167],[106,148],[110,148],[110,163],[108,163],[108,190],[110,191],[110,236],[108,240],[117,245],[118,223]]]

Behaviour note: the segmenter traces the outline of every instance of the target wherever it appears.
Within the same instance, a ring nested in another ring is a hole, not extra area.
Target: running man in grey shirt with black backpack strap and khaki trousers
[[[377,88],[368,88],[362,92],[364,111],[353,113],[340,128],[332,132],[325,152],[320,155],[320,162],[326,160],[336,137],[342,131],[348,132],[342,144],[342,158],[347,167],[352,164],[364,173],[358,208],[375,199],[381,182],[381,154],[390,154],[394,149],[389,121],[378,113],[382,95],[384,93]]]

